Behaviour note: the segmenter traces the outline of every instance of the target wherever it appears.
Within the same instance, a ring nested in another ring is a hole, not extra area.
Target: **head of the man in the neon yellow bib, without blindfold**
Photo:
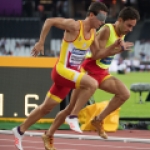
[[[119,30],[122,34],[127,34],[133,30],[140,19],[139,12],[132,7],[123,8],[118,16]]]

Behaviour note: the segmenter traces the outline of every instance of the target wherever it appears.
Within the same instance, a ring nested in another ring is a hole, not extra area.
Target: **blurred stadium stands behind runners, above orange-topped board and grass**
[[[97,0],[98,1],[98,0]],[[111,71],[149,71],[150,66],[150,1],[99,0],[109,8],[106,22],[114,23],[125,6],[139,10],[141,20],[125,40],[135,43],[132,51],[116,55]],[[42,25],[49,17],[85,18],[91,0],[0,0],[0,56],[30,56]],[[63,31],[55,27],[45,42],[45,56],[59,56]],[[123,64],[123,65],[121,65]]]

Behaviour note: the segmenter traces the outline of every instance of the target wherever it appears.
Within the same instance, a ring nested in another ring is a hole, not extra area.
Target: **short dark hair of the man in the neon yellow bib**
[[[120,13],[118,18],[122,18],[124,21],[126,20],[140,20],[139,12],[133,7],[124,7]]]

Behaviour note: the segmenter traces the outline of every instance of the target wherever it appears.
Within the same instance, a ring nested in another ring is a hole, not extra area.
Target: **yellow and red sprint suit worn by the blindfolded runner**
[[[91,43],[94,41],[95,30],[91,29],[88,39],[84,37],[83,21],[80,22],[80,32],[74,41],[62,41],[59,60],[52,71],[52,85],[48,95],[60,102],[69,93],[70,89],[79,88],[85,73],[79,72],[79,66]]]

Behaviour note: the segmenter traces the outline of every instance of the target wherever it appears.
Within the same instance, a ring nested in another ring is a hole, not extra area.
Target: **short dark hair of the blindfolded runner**
[[[87,10],[87,16],[89,16],[90,12],[94,13],[94,15],[97,15],[99,11],[105,11],[108,12],[107,6],[102,2],[92,2]]]

